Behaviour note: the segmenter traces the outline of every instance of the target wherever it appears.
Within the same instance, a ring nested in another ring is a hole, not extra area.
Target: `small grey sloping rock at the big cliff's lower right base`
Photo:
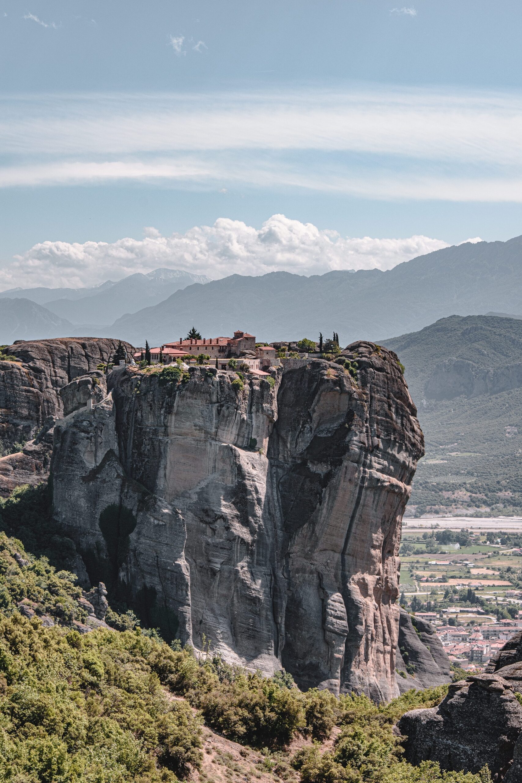
[[[400,609],[396,680],[399,691],[434,687],[451,681],[448,655],[426,620]]]

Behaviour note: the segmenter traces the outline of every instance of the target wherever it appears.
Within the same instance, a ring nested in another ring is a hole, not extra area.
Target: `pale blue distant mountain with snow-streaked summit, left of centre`
[[[3,291],[0,298],[23,296],[45,305],[70,323],[113,323],[124,313],[157,305],[176,290],[192,283],[207,283],[206,275],[181,269],[154,269],[146,275],[136,273],[113,283],[107,280],[90,288],[32,288]]]

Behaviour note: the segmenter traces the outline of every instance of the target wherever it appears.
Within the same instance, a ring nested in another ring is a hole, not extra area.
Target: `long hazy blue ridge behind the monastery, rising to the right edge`
[[[319,337],[334,330],[347,344],[422,329],[455,312],[521,312],[522,236],[466,243],[400,264],[388,272],[328,272],[303,277],[271,272],[232,275],[177,291],[159,305],[123,316],[114,333],[142,345],[185,335],[247,329],[259,339]]]

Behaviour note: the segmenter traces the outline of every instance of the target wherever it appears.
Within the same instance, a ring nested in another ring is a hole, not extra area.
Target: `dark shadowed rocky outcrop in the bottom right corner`
[[[438,707],[405,713],[398,729],[412,764],[437,761],[443,770],[464,772],[488,764],[494,779],[502,779],[522,733],[522,705],[508,680],[477,674],[450,685]]]

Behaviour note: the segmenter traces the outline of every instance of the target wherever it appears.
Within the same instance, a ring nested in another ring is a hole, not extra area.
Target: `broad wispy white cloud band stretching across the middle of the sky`
[[[364,89],[15,96],[0,186],[141,180],[522,201],[522,95]]]

